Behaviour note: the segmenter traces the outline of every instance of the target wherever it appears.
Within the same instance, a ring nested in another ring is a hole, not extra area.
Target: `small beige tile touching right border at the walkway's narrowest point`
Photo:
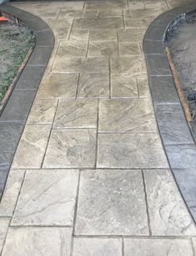
[[[137,43],[119,43],[119,55],[141,55],[140,45]]]

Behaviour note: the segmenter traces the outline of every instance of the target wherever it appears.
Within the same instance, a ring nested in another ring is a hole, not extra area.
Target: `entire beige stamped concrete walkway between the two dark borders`
[[[180,3],[14,4],[56,44],[0,205],[3,256],[196,255],[142,49],[148,24]]]

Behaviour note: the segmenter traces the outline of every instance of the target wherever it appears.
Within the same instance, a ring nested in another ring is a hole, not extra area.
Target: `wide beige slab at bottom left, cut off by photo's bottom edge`
[[[9,228],[3,256],[70,255],[72,228]]]

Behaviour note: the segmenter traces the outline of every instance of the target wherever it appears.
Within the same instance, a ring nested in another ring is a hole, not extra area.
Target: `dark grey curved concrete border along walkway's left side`
[[[0,197],[3,193],[8,172],[28,113],[33,104],[38,86],[43,77],[48,60],[53,52],[54,37],[52,30],[42,19],[21,9],[2,4],[0,9],[28,25],[36,36],[36,45],[28,63],[19,76],[12,95],[0,115]]]

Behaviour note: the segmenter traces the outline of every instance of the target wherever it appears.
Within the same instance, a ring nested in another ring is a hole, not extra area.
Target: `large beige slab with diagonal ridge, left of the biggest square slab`
[[[28,170],[12,225],[73,225],[77,187],[77,170]]]

